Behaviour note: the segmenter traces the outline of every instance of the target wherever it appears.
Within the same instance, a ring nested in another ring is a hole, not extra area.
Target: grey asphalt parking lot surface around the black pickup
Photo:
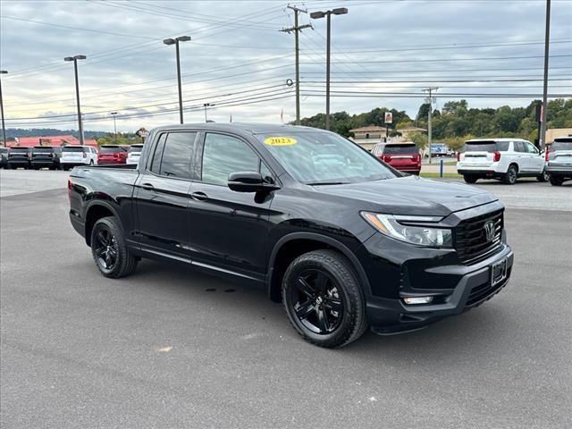
[[[516,254],[484,306],[329,350],[257,290],[151,261],[105,279],[66,176],[0,176],[3,428],[572,426],[572,182],[478,185]]]

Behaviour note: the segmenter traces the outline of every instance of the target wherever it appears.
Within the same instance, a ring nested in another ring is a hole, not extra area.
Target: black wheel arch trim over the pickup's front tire
[[[319,248],[337,250],[349,260],[357,274],[357,280],[365,295],[371,295],[371,286],[366,270],[360,264],[354,252],[339,240],[314,232],[292,232],[278,240],[271,252],[266,273],[266,291],[273,302],[281,301],[282,277],[290,262],[296,257]]]

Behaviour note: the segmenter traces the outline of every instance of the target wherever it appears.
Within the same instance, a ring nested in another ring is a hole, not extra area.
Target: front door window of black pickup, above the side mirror
[[[231,172],[257,172],[258,164],[257,154],[242,140],[206,134],[202,181],[226,186]]]

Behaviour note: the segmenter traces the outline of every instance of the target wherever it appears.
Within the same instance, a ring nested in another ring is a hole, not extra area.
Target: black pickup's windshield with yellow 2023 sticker
[[[302,183],[340,184],[396,177],[374,156],[336,134],[325,132],[257,135],[284,170]]]

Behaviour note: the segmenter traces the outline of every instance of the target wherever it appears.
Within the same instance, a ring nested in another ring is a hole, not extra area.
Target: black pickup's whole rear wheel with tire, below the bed
[[[113,216],[99,219],[91,231],[91,255],[105,277],[118,279],[137,268],[137,259],[127,248],[123,231]]]

